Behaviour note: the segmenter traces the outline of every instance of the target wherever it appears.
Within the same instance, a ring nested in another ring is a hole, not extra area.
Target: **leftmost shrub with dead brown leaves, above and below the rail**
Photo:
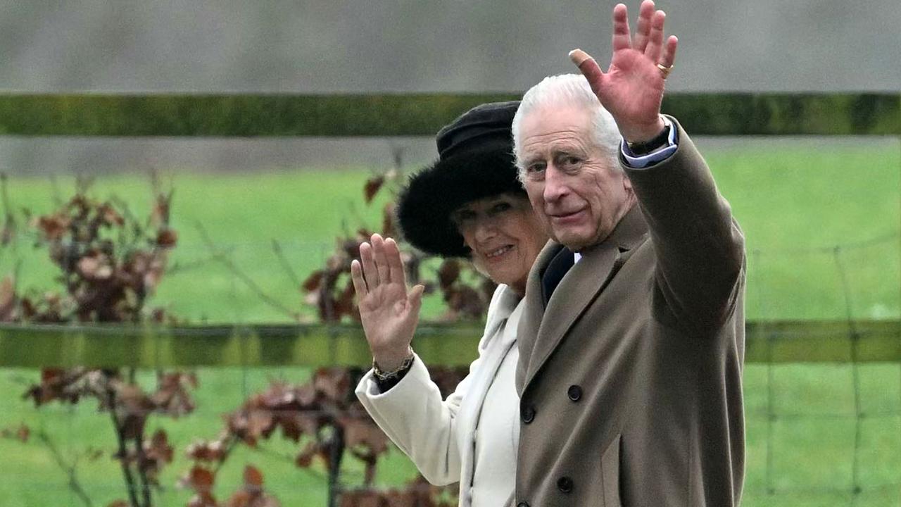
[[[0,321],[41,323],[140,323],[171,321],[161,309],[150,313],[145,303],[166,272],[167,257],[177,244],[169,226],[172,192],[156,191],[150,217],[139,220],[121,200],[98,201],[79,181],[76,195],[53,212],[31,217],[25,212],[30,231],[17,229],[10,212],[5,179],[6,211],[0,239],[8,244],[14,235],[33,237],[35,248],[45,249],[59,268],[61,289],[42,294],[20,293],[14,277],[0,281]],[[128,501],[114,505],[150,507],[152,492],[159,488],[159,471],[172,461],[168,435],[158,429],[146,435],[150,414],[177,418],[194,410],[190,392],[197,386],[193,373],[158,372],[156,385],[148,392],[136,381],[133,368],[44,368],[40,383],[23,394],[41,407],[56,401],[76,404],[93,399],[100,412],[109,415],[117,439],[112,454],[123,472]],[[49,436],[41,439],[54,452]],[[74,465],[54,453],[69,475],[68,485],[86,505],[93,502],[80,484]]]

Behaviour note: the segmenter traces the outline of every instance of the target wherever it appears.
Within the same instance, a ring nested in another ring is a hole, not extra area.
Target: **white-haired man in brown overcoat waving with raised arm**
[[[514,151],[552,240],[519,331],[512,504],[737,505],[744,469],[743,237],[705,161],[660,115],[677,40],[614,8],[603,72],[547,78]],[[603,106],[603,107],[602,107]],[[609,111],[609,113],[608,113]]]

